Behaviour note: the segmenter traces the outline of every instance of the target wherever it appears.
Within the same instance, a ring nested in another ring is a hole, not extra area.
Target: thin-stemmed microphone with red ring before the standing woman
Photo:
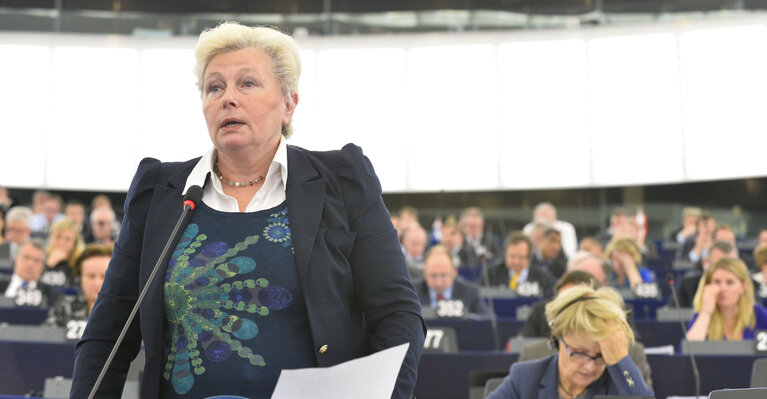
[[[157,271],[160,270],[160,264],[162,263],[163,259],[165,259],[165,256],[167,256],[168,251],[170,251],[171,245],[176,242],[176,236],[178,236],[179,231],[181,231],[181,226],[184,224],[184,220],[186,219],[187,214],[189,211],[196,207],[197,203],[199,203],[201,199],[202,187],[195,185],[189,187],[189,189],[186,191],[186,194],[184,195],[184,210],[181,212],[181,217],[178,218],[176,227],[173,228],[173,232],[170,234],[168,241],[165,243],[165,248],[163,248],[162,254],[160,254],[159,258],[157,258],[157,263],[155,263],[154,269],[152,269],[152,273],[149,275],[144,288],[141,290],[141,294],[139,294],[138,299],[136,300],[136,304],[133,306],[133,310],[131,310],[130,315],[128,316],[128,320],[125,322],[120,335],[117,337],[117,341],[115,341],[115,344],[112,347],[112,351],[109,353],[109,357],[107,357],[107,361],[104,363],[104,367],[101,369],[101,373],[99,373],[99,378],[97,378],[96,383],[93,384],[93,389],[91,389],[91,393],[88,395],[88,399],[93,399],[96,396],[96,391],[99,389],[101,381],[104,379],[109,365],[112,364],[112,360],[117,354],[117,348],[119,348],[120,344],[122,344],[122,341],[125,338],[125,334],[128,332],[128,328],[130,327],[131,323],[133,323],[133,319],[136,317],[136,313],[138,313],[138,308],[141,306],[141,302],[144,301],[144,297],[146,296],[147,291],[149,291],[149,286],[152,285],[152,281],[154,280],[155,275],[157,275]]]

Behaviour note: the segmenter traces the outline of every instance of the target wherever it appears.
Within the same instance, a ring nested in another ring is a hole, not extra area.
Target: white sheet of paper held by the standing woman
[[[272,399],[389,399],[409,346],[332,367],[282,370]]]

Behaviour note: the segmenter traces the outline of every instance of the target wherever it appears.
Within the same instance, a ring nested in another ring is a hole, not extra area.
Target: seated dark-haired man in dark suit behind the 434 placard
[[[532,245],[530,238],[521,232],[511,233],[504,242],[505,256],[502,261],[488,267],[487,285],[505,287],[523,296],[550,297],[556,279],[549,272],[530,264]],[[533,286],[537,289],[529,289]]]

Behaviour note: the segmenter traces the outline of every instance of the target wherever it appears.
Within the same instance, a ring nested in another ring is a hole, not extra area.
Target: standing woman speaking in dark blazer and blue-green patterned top
[[[145,398],[269,398],[282,369],[326,367],[410,343],[392,393],[410,398],[425,325],[381,187],[359,147],[288,146],[298,48],[269,28],[203,32],[195,73],[212,148],[141,161],[106,280],[77,345],[86,397],[182,212],[97,397],[118,398],[143,340]]]

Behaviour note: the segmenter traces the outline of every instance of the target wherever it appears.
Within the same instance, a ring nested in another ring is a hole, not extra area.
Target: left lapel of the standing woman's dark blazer
[[[191,166],[194,167],[195,163]],[[165,244],[171,239],[173,228],[183,211],[183,193],[186,183],[186,177],[191,169],[184,168],[171,175],[167,182],[158,182],[155,186],[152,203],[149,206],[146,225],[144,227],[144,246],[141,256],[140,283],[141,287],[146,285],[152,269],[157,259],[162,255]],[[187,217],[186,222],[189,221]],[[182,226],[181,231],[185,226]],[[161,350],[162,344],[162,326],[164,323],[158,323],[162,320],[165,309],[163,286],[165,282],[165,272],[170,260],[170,254],[173,253],[175,242],[171,244],[170,250],[164,259],[160,261],[160,268],[157,270],[154,280],[147,291],[144,302],[141,305],[141,327],[144,335],[144,345],[147,351]]]

